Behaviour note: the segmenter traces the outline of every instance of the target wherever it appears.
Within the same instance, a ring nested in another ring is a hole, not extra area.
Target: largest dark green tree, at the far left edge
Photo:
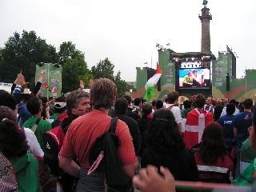
[[[22,70],[26,81],[34,85],[35,65],[38,62],[57,62],[54,46],[46,44],[46,40],[37,37],[34,31],[23,30],[11,36],[1,49],[0,79],[3,82],[14,82]]]

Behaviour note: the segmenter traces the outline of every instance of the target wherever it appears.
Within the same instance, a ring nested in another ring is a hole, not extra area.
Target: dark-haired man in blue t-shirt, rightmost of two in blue
[[[244,111],[240,114],[235,115],[234,117],[234,137],[237,138],[236,143],[236,158],[237,158],[237,166],[235,168],[234,178],[237,178],[240,174],[240,153],[242,142],[246,141],[249,138],[248,128],[252,126],[252,116],[253,113],[251,109],[253,107],[253,100],[251,98],[246,98],[243,102]]]

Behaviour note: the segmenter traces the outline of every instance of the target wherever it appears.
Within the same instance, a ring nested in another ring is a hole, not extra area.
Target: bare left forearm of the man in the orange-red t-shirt
[[[76,164],[73,159],[64,158],[62,155],[60,155],[59,167],[63,170],[66,170],[68,174],[71,174],[76,178],[80,178],[80,166],[78,166],[78,164]]]

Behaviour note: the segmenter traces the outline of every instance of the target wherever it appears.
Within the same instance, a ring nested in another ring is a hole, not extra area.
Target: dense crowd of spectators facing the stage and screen
[[[133,178],[129,191],[179,191],[175,180],[231,185],[246,169],[240,168],[244,143],[247,150],[256,147],[250,98],[238,103],[197,94],[178,103],[180,95],[171,91],[146,102],[128,94],[118,98],[114,82],[100,78],[90,93],[80,82],[78,90],[50,100],[40,91],[43,75],[31,92],[22,72],[11,93],[0,90],[0,152],[14,169],[18,191],[49,191],[39,178],[38,157],[48,147],[43,134],[56,126],[65,135],[59,153],[63,191],[107,191],[104,169],[88,174],[89,158],[114,117],[122,170]]]

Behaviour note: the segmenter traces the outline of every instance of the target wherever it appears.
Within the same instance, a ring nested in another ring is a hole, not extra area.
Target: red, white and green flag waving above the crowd
[[[146,97],[146,101],[150,102],[150,98],[156,96],[157,94],[155,93],[155,86],[158,83],[159,78],[161,78],[162,75],[162,70],[160,68],[160,66],[158,66],[157,63],[157,70],[155,71],[155,74],[152,78],[150,78],[145,85],[146,88],[146,93],[145,93],[145,97]]]

